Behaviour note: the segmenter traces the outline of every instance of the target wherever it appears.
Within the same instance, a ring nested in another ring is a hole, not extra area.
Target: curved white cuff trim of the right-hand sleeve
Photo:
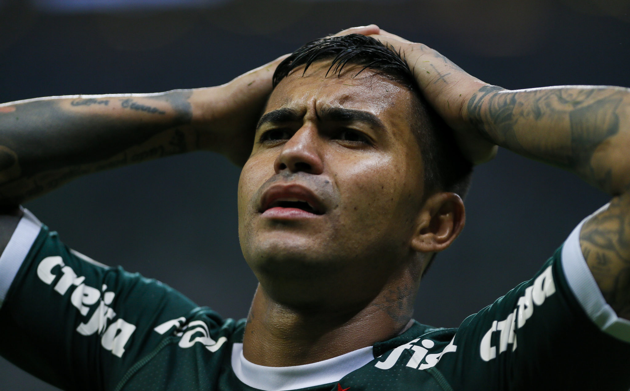
[[[605,205],[593,215],[607,207]],[[593,215],[582,220],[564,242],[561,259],[564,275],[581,307],[600,330],[630,343],[630,321],[618,317],[608,305],[582,254],[580,230]]]

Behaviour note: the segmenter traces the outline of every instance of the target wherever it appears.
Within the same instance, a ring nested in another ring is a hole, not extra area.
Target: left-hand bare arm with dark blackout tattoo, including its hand
[[[193,150],[243,164],[276,64],[214,88],[0,105],[0,207],[83,174]]]

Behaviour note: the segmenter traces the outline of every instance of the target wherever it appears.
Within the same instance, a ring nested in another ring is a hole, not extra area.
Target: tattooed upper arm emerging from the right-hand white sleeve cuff
[[[630,195],[613,198],[585,222],[580,245],[610,307],[630,319]]]

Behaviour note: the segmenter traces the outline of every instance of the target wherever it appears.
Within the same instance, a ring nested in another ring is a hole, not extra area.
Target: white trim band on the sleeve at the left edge
[[[24,215],[20,218],[9,243],[0,255],[0,307],[15,275],[18,274],[20,266],[42,229],[42,223],[33,216],[33,213],[28,209],[23,209],[23,212]]]

